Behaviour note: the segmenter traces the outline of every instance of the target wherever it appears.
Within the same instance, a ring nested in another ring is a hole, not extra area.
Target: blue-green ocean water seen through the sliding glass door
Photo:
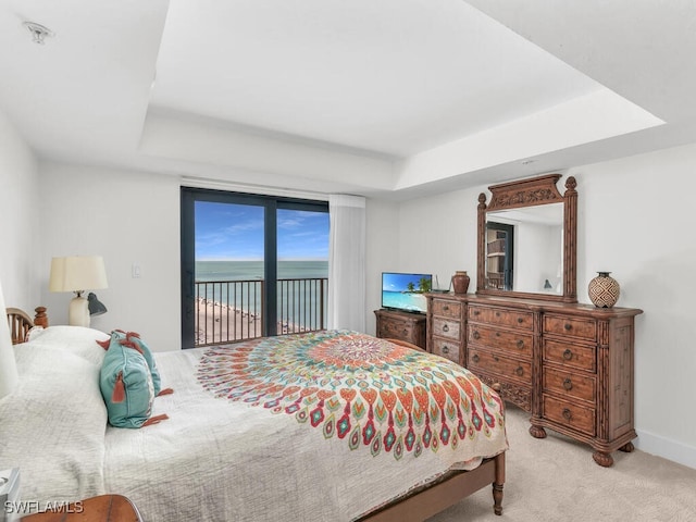
[[[278,261],[278,279],[327,278],[328,261]],[[196,296],[258,315],[261,313],[263,261],[196,261]],[[233,282],[233,283],[212,283]],[[207,284],[206,284],[207,283]],[[322,296],[323,289],[323,296]],[[278,282],[277,314],[282,323],[316,328],[319,303],[326,316],[328,285],[324,282]]]

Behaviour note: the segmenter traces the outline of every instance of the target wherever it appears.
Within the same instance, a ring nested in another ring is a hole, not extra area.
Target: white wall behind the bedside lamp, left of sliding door
[[[179,181],[103,167],[42,164],[41,302],[67,323],[72,294],[48,291],[52,257],[101,254],[109,312],[91,325],[138,332],[157,351],[181,349]],[[134,263],[141,276],[132,277]]]

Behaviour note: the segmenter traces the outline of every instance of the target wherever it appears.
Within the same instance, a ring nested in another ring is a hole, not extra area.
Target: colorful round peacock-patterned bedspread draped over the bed
[[[500,398],[468,370],[355,332],[210,348],[197,378],[215,397],[294,415],[351,450],[396,460],[499,439],[505,430]]]

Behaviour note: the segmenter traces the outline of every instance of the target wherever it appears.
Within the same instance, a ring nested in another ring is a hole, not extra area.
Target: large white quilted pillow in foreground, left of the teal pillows
[[[14,351],[20,384],[0,399],[0,463],[20,468],[22,500],[74,501],[103,494],[107,408],[99,368],[32,343]]]

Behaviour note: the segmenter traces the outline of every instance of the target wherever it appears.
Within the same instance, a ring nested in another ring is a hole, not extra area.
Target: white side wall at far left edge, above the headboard
[[[8,307],[39,304],[38,167],[34,154],[0,111],[0,281]]]

